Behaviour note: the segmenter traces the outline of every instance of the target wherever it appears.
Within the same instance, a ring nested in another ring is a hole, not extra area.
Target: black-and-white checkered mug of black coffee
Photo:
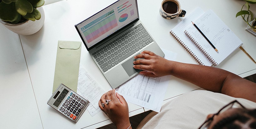
[[[181,9],[180,2],[177,0],[163,0],[160,7],[160,15],[166,19],[174,19],[175,17],[184,17],[185,10]]]

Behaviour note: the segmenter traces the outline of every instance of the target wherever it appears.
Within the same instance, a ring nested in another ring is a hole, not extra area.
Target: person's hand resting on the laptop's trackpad
[[[170,75],[171,61],[156,55],[154,52],[142,51],[141,54],[135,56],[134,58],[144,58],[135,60],[133,62],[133,64],[135,64],[133,65],[133,68],[144,70],[141,71],[140,74],[148,77],[161,77]]]

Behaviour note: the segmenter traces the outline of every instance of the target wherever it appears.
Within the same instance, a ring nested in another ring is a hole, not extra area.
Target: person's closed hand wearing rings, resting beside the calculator
[[[105,103],[106,100],[109,100],[108,104]],[[104,107],[101,106],[101,103]],[[115,93],[115,89],[101,96],[99,107],[118,129],[127,129],[130,126],[128,104],[123,96]]]

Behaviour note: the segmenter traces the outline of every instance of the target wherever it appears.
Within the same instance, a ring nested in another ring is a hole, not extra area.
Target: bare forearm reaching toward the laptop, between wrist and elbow
[[[213,92],[221,92],[225,80],[229,77],[233,78],[237,76],[215,67],[185,64],[175,61],[170,61],[170,63],[172,67],[170,68],[171,75]]]

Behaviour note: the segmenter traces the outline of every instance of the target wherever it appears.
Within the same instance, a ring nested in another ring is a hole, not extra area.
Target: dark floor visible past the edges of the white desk
[[[245,77],[245,79],[256,83],[256,74],[253,74],[253,75],[251,75],[251,76]],[[147,111],[147,112],[140,113],[140,114],[138,114],[138,115],[135,115],[135,116],[130,117],[130,122],[131,122],[132,128],[135,129],[135,128],[138,126],[138,124],[140,123],[140,121],[141,121],[147,114],[149,114],[150,112],[151,112],[151,111]],[[106,125],[106,126],[97,128],[97,129],[116,129],[116,126],[112,123],[112,124],[109,124],[109,125]]]

